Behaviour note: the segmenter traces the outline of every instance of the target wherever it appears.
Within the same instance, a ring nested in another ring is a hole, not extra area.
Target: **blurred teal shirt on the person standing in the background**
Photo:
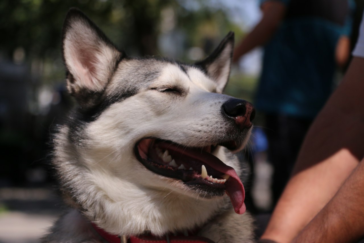
[[[279,1],[286,6],[290,2]],[[350,30],[351,18],[343,25],[317,16],[286,18],[264,47],[256,108],[308,119],[316,116],[332,92],[337,40]]]

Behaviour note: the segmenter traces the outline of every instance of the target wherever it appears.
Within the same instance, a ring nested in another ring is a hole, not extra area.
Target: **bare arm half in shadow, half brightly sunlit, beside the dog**
[[[343,82],[312,124],[293,176],[262,239],[291,242],[331,200],[363,158],[363,67],[364,58],[353,58]],[[337,205],[330,207],[333,206]],[[302,234],[309,232],[305,229]]]

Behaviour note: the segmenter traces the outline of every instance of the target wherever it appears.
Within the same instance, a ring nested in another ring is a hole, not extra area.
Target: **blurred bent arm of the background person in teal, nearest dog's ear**
[[[262,4],[261,9],[262,19],[237,45],[234,51],[233,62],[237,62],[248,51],[268,42],[274,32],[276,32],[286,11],[285,5],[280,1],[266,1]]]

